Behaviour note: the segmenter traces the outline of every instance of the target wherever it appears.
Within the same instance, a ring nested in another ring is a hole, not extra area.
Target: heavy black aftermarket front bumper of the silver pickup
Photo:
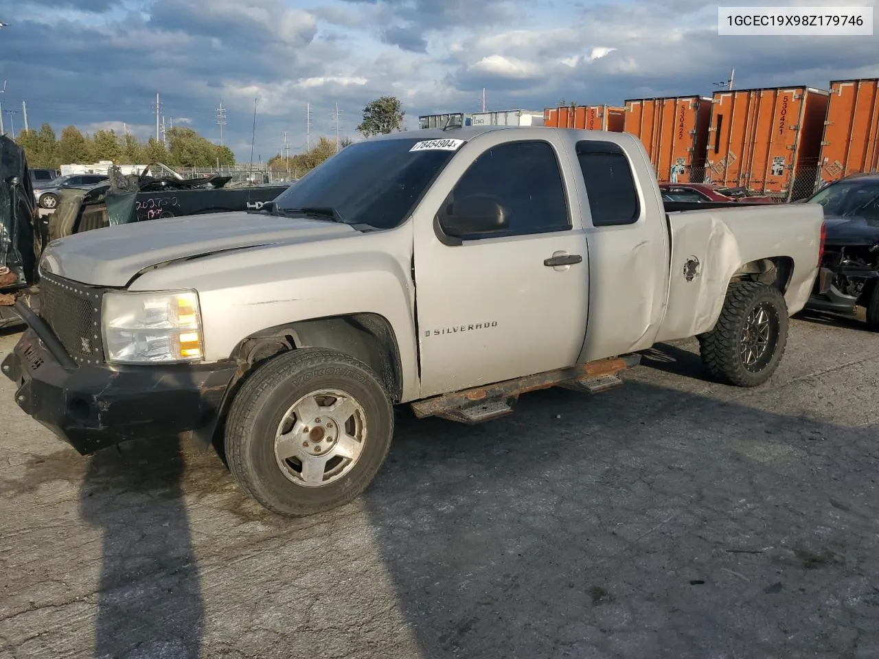
[[[18,407],[82,455],[127,439],[163,438],[193,431],[211,438],[234,361],[167,366],[75,366],[33,312],[30,326],[3,360],[18,385]]]

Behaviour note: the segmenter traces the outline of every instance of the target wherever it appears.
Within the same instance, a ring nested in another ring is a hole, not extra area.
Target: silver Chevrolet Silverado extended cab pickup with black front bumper
[[[266,508],[358,496],[393,406],[475,423],[521,393],[620,384],[699,337],[710,375],[766,381],[817,273],[812,205],[666,213],[628,134],[469,127],[342,150],[259,213],[47,246],[4,372],[80,453],[220,438]]]

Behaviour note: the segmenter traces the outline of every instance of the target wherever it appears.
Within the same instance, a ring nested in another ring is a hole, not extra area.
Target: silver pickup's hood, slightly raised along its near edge
[[[244,211],[189,215],[68,235],[47,245],[40,270],[91,286],[126,286],[144,268],[177,259],[356,232],[346,224]]]

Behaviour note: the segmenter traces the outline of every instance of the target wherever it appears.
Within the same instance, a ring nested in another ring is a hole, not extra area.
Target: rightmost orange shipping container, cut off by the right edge
[[[833,80],[821,142],[821,180],[879,170],[879,78]]]

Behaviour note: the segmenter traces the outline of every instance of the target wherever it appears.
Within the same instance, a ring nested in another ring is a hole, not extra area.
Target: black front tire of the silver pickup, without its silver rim
[[[287,409],[301,396],[333,387],[360,403],[367,438],[350,472],[321,487],[303,487],[281,471],[275,459],[275,432]],[[360,496],[384,462],[393,434],[393,406],[369,366],[338,351],[302,348],[265,362],[243,384],[229,409],[225,453],[229,470],[265,508],[304,517]]]

